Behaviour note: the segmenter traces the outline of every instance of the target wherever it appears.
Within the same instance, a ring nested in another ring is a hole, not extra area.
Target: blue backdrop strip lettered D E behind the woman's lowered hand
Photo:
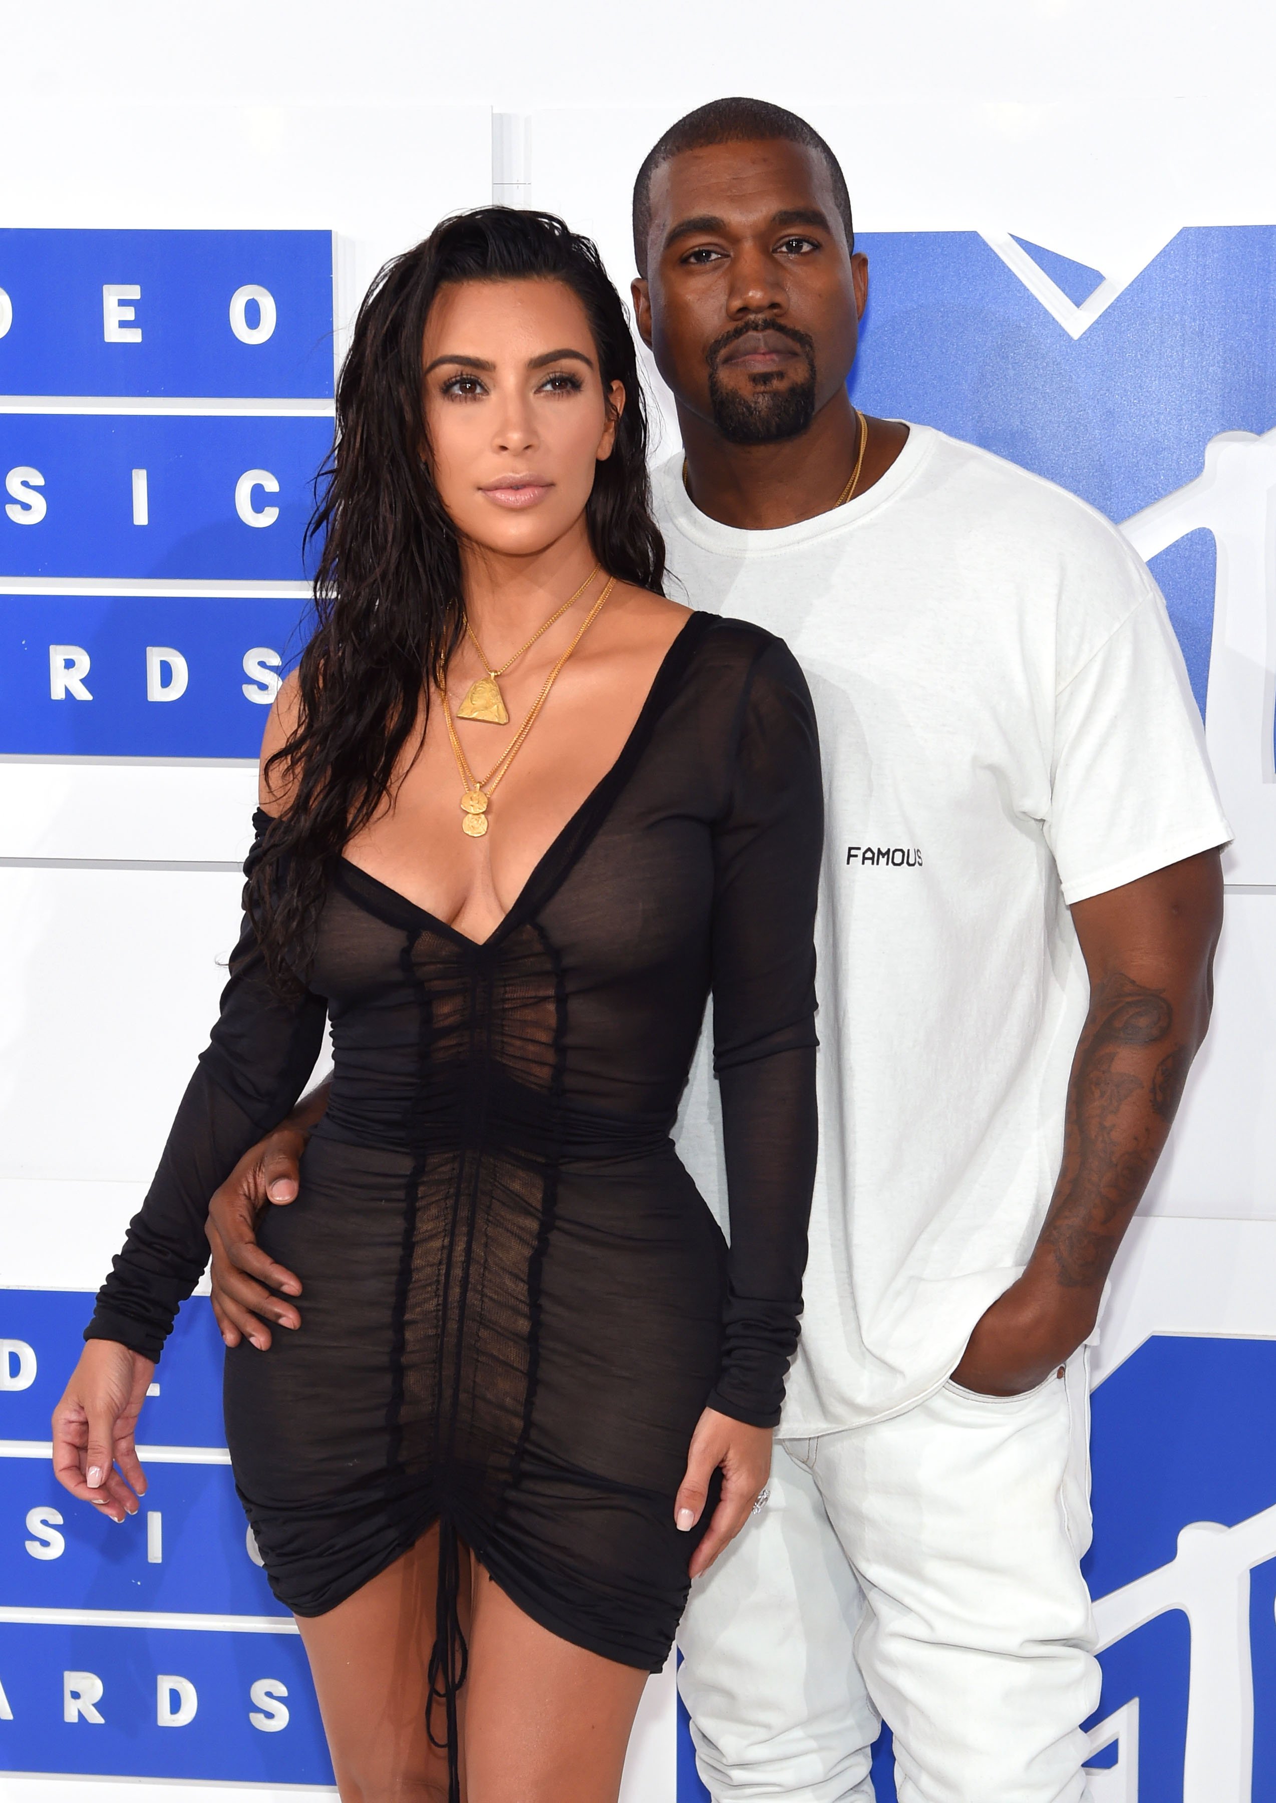
[[[92,1313],[94,1298],[83,1289],[0,1289],[0,1441],[49,1439],[50,1415],[76,1368]],[[223,1350],[213,1304],[191,1296],[155,1372],[160,1394],[142,1403],[141,1442],[225,1446]],[[0,1603],[9,1601],[0,1587]]]

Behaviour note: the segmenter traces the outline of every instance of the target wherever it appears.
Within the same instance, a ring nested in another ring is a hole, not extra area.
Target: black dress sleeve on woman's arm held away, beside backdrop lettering
[[[267,815],[254,815],[252,824],[260,844]],[[144,1358],[160,1356],[207,1264],[209,1197],[301,1094],[319,1057],[324,1017],[321,997],[305,992],[283,1002],[270,990],[245,916],[218,1022],[178,1105],[155,1181],[97,1291],[85,1340],[117,1340]]]

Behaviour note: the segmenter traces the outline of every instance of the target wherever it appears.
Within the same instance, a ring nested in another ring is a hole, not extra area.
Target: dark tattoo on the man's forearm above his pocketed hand
[[[1058,1282],[1107,1277],[1164,1145],[1195,1044],[1175,1033],[1162,990],[1114,972],[1090,997],[1067,1102],[1063,1167],[1040,1246]]]

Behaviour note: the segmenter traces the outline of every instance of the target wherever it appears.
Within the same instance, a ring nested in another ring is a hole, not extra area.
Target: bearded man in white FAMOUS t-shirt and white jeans
[[[1076,1803],[1099,1698],[1085,1341],[1206,1031],[1227,826],[1148,572],[1089,507],[845,380],[867,263],[793,114],[717,101],[634,189],[636,323],[687,460],[670,570],[804,664],[829,790],[822,1172],[768,1500],[681,1671],[726,1799]],[[305,1121],[213,1210],[229,1338]],[[703,1094],[679,1145],[721,1195]],[[251,1275],[245,1275],[251,1273]],[[685,1498],[679,1496],[679,1504]],[[692,1502],[703,1500],[701,1496]]]

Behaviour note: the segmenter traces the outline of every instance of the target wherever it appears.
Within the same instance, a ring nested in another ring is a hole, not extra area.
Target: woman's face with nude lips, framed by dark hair
[[[431,469],[461,537],[510,555],[553,545],[582,517],[624,406],[620,382],[604,395],[577,296],[548,279],[449,283],[422,352]]]

